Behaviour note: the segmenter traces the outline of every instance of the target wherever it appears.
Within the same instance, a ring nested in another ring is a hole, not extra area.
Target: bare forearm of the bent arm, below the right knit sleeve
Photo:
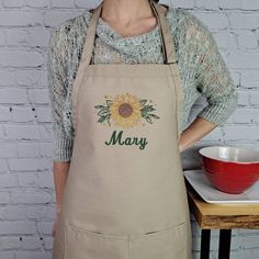
[[[210,132],[212,132],[217,124],[209,122],[203,117],[196,117],[182,133],[179,140],[179,150],[183,150],[191,147],[194,143],[199,142]]]

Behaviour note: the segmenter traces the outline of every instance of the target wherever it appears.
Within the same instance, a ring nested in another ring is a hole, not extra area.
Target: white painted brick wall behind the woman
[[[55,192],[46,49],[54,26],[97,2],[0,0],[0,259],[52,258]],[[203,145],[259,150],[259,1],[162,2],[188,9],[209,25],[239,95],[227,123],[182,154],[183,167],[200,162],[196,149]],[[204,104],[198,100],[190,122]],[[199,258],[200,228],[193,217],[192,227],[193,255]],[[213,259],[217,237],[218,230],[212,230]],[[233,229],[232,258],[259,258],[259,230]]]

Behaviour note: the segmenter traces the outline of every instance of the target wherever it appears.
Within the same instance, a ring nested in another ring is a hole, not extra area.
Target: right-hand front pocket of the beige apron
[[[187,222],[167,229],[130,236],[131,259],[190,259]]]

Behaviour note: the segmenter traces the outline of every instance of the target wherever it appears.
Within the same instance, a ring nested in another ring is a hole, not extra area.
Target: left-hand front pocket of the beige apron
[[[68,222],[65,228],[65,259],[126,259],[127,237],[85,229]]]

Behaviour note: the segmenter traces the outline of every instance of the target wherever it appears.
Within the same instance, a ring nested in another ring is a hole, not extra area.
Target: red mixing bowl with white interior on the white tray
[[[211,146],[199,150],[202,170],[219,191],[238,194],[259,179],[259,151],[239,147]]]

